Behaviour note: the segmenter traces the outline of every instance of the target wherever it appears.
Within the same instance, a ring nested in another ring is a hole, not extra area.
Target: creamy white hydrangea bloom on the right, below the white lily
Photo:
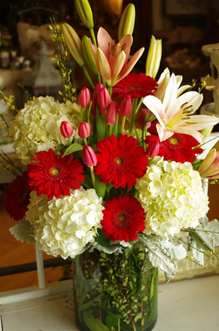
[[[135,187],[146,213],[146,234],[173,236],[181,228],[196,227],[209,210],[200,175],[190,162],[157,156]]]

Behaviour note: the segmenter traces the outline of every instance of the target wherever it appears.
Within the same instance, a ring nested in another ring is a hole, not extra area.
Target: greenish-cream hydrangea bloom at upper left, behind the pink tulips
[[[68,138],[64,138],[60,132],[62,121],[68,121],[74,127],[72,137],[78,138],[80,109],[76,103],[60,103],[50,96],[28,101],[10,126],[13,148],[21,163],[30,163],[36,152],[52,148],[59,153],[61,145],[68,145]]]

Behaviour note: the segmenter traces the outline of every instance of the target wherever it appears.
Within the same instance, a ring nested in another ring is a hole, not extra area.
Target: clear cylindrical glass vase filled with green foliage
[[[118,255],[85,251],[73,261],[80,331],[150,331],[157,318],[157,268],[134,244]]]

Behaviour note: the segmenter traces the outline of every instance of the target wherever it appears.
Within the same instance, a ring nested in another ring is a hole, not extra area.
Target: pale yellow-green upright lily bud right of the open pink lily
[[[146,60],[146,75],[155,77],[160,66],[162,54],[162,43],[161,39],[155,39],[154,36],[151,38],[151,43],[148,51]]]

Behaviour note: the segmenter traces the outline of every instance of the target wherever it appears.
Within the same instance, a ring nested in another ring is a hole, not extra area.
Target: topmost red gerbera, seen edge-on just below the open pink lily
[[[120,80],[113,86],[112,97],[124,98],[125,95],[130,95],[133,98],[146,97],[152,94],[153,90],[157,89],[157,82],[154,78],[147,76],[145,73],[131,73]]]

